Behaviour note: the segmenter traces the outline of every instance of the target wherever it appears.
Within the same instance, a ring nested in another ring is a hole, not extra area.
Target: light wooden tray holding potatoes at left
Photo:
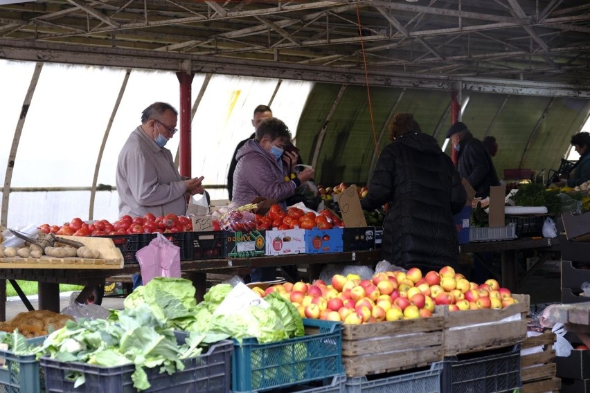
[[[60,236],[64,239],[79,241],[93,250],[100,251],[100,258],[80,257],[56,258],[43,255],[35,258],[0,258],[0,268],[33,269],[118,269],[123,268],[123,254],[108,237]]]

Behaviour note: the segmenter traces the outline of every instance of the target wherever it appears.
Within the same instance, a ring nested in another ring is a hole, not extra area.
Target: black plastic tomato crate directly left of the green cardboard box
[[[164,233],[163,235],[180,247],[181,261],[226,257],[224,230]]]

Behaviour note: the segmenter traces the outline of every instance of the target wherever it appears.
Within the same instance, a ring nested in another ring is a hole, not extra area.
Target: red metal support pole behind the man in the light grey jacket
[[[195,74],[180,71],[176,73],[178,81],[180,82],[180,109],[179,109],[179,124],[180,124],[180,143],[179,143],[179,172],[180,176],[192,177],[190,175],[190,112],[193,107],[192,86],[193,77]]]

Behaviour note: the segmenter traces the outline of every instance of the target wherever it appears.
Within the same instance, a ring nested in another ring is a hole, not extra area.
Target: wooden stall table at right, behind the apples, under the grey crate
[[[541,257],[521,277],[518,276],[517,254],[521,250],[537,250]],[[523,237],[521,239],[500,240],[500,241],[479,241],[459,246],[459,253],[501,253],[501,285],[515,292],[519,284],[528,280],[537,269],[543,266],[544,262],[550,257],[551,253],[560,250],[560,240],[558,237],[533,238]]]

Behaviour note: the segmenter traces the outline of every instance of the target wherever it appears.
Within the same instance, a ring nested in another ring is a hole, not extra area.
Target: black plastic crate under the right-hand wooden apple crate
[[[443,363],[442,392],[499,393],[522,387],[520,345],[449,356]]]

